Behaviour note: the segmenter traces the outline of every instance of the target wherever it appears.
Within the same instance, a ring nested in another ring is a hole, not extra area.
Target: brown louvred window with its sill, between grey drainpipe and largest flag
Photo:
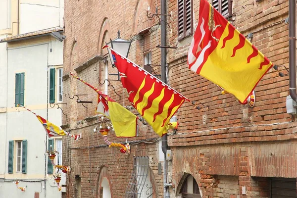
[[[186,25],[186,23],[187,23],[187,9],[186,9],[186,5],[187,5],[187,0],[183,0],[183,5],[184,5],[184,7],[183,7],[183,22],[184,22],[184,28],[183,28],[183,33],[182,34],[180,34],[179,33],[179,28],[180,28],[180,26],[179,26],[179,13],[178,13],[178,10],[179,10],[179,0],[178,0],[178,4],[177,4],[177,34],[178,34],[178,41],[181,41],[181,40],[183,40],[183,39],[185,39],[185,38],[187,38],[187,37],[189,37],[189,36],[191,36],[192,34],[193,34],[193,32],[194,32],[194,27],[193,27],[193,0],[190,0],[190,2],[191,2],[191,28],[190,28],[190,31],[188,30],[187,31],[187,25]]]

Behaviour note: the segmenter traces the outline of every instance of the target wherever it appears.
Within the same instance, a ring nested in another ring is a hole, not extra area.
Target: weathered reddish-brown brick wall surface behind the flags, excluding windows
[[[117,30],[123,39],[132,40],[129,59],[143,65],[143,35],[138,34],[150,28],[150,41],[153,70],[160,74],[160,25],[157,17],[148,20],[146,10],[160,10],[160,1],[154,0],[65,0],[65,35],[64,41],[64,75],[69,72],[104,90],[101,85],[104,79],[103,55],[101,50],[104,41],[114,39]],[[179,130],[168,136],[169,146],[173,150],[172,182],[176,190],[171,195],[178,196],[178,188],[182,184],[185,173],[190,173],[198,181],[203,198],[228,197],[269,197],[269,179],[251,174],[249,166],[252,158],[248,154],[254,142],[288,141],[296,138],[295,117],[286,113],[286,96],[289,95],[289,76],[284,67],[280,70],[285,74],[279,77],[271,69],[255,89],[256,103],[253,108],[240,104],[230,94],[221,95],[220,90],[208,80],[194,74],[187,68],[187,51],[191,37],[178,41],[177,33],[177,1],[168,0],[167,43],[177,46],[168,49],[167,63],[170,86],[187,98],[197,101],[200,110],[186,102],[176,113]],[[260,2],[233,0],[233,12],[236,16],[233,25],[243,35],[253,33],[251,40],[265,56],[274,64],[288,67],[288,0],[262,0]],[[193,0],[194,28],[198,24],[199,0]],[[93,62],[92,57],[98,55]],[[92,63],[89,63],[89,62]],[[84,69],[75,70],[82,65]],[[116,73],[109,65],[108,73]],[[110,79],[116,79],[111,77]],[[158,175],[158,144],[140,143],[132,146],[132,153],[127,156],[114,148],[100,147],[104,142],[100,134],[93,129],[99,120],[90,119],[95,116],[97,94],[81,82],[73,78],[64,80],[63,125],[71,133],[83,133],[83,140],[63,139],[63,160],[73,167],[68,178],[67,198],[74,196],[74,177],[81,176],[82,198],[96,197],[99,185],[101,166],[108,170],[111,181],[112,196],[123,197],[133,165],[133,156],[148,155],[152,159],[150,168],[153,172],[155,188],[159,197],[163,195],[163,176]],[[129,106],[121,84],[111,81],[108,95],[120,104]],[[81,100],[93,101],[93,104],[76,102],[74,94]],[[199,102],[198,102],[199,101]],[[206,107],[200,104],[204,104]],[[90,121],[91,120],[91,121]],[[158,138],[151,127],[139,123],[140,136],[129,141]],[[125,142],[113,133],[108,139]],[[288,143],[288,144],[289,144]],[[286,142],[284,142],[286,145]],[[285,146],[284,146],[285,147]],[[224,163],[218,163],[224,161]],[[230,162],[230,163],[227,163]],[[274,163],[274,162],[272,162]],[[225,175],[225,176],[223,176]],[[226,176],[228,175],[228,176]],[[292,175],[282,175],[292,177]],[[266,176],[267,177],[267,176]],[[247,188],[247,195],[242,195],[242,187]],[[233,188],[234,187],[234,188]]]

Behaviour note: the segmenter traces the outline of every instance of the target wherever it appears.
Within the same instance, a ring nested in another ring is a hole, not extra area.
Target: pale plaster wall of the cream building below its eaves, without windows
[[[32,198],[36,192],[43,198],[57,198],[61,192],[57,190],[56,183],[51,175],[45,175],[45,141],[47,134],[34,114],[23,109],[14,107],[15,97],[15,73],[25,72],[25,99],[24,105],[44,118],[48,118],[53,124],[61,125],[61,110],[51,108],[48,102],[48,69],[62,65],[62,43],[50,40],[49,37],[20,42],[21,44],[9,44],[7,52],[7,112],[0,113],[0,125],[3,127],[4,138],[0,140],[0,157],[5,160],[0,162],[0,198]],[[31,43],[31,45],[30,45]],[[6,47],[5,47],[6,48]],[[51,49],[51,50],[50,50]],[[5,52],[6,53],[6,52]],[[49,65],[49,63],[51,65]],[[5,72],[6,74],[6,72]],[[5,83],[6,87],[6,83]],[[2,88],[3,89],[3,88]],[[6,88],[5,88],[6,90]],[[6,96],[6,91],[5,91]],[[47,107],[49,108],[47,110]],[[1,108],[0,108],[1,109]],[[6,108],[5,108],[6,109]],[[6,123],[7,113],[7,123]],[[7,126],[7,137],[6,137]],[[2,129],[2,128],[1,128]],[[1,130],[2,132],[2,130]],[[27,140],[27,173],[16,173],[15,159],[14,173],[7,173],[9,140]],[[44,180],[46,177],[46,186]],[[16,185],[9,181],[23,181],[19,187],[26,187],[23,193]],[[64,179],[65,180],[65,179]],[[45,189],[44,189],[45,186]]]

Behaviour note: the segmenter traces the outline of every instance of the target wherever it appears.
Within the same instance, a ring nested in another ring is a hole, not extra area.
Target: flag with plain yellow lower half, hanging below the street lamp
[[[117,137],[135,137],[137,130],[137,116],[128,109],[115,102],[109,96],[100,92],[91,84],[70,73],[74,78],[91,87],[98,93],[97,112],[111,120]]]

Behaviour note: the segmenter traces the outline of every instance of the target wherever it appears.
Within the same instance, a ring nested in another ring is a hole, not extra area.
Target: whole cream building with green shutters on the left
[[[54,103],[63,103],[63,42],[50,33],[63,33],[63,6],[63,0],[0,1],[0,198],[61,197],[45,152],[53,145],[63,164],[62,139],[49,139],[36,116],[16,104],[61,125]]]

